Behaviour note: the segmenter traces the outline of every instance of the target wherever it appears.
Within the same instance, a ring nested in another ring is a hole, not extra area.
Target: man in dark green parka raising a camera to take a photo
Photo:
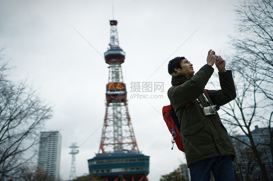
[[[236,97],[232,73],[225,70],[225,60],[208,51],[206,63],[195,75],[185,57],[170,60],[168,72],[172,87],[168,97],[181,124],[191,181],[235,181],[232,160],[235,150],[218,113],[205,116],[204,107],[222,106]],[[204,90],[213,65],[219,71],[221,90]]]

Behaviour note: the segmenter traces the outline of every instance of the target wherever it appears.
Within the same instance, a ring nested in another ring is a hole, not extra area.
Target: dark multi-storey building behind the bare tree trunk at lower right
[[[273,130],[273,128],[271,128]],[[268,179],[273,181],[273,166],[272,155],[269,147],[270,133],[269,128],[259,128],[255,126],[255,129],[251,131],[256,148],[260,154],[261,160],[266,167],[268,173]],[[231,139],[236,151],[235,169],[237,173],[238,181],[260,181],[261,170],[256,162],[254,153],[250,147],[246,144],[250,144],[250,140],[246,135],[235,136],[238,139]],[[243,144],[242,142],[246,143]]]

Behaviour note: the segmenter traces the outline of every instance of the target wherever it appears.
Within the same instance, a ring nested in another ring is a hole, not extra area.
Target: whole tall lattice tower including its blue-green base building
[[[106,111],[99,153],[88,160],[89,172],[104,181],[148,181],[150,157],[140,153],[136,144],[121,70],[125,52],[119,47],[117,24],[110,20],[110,44],[104,53],[109,64]]]

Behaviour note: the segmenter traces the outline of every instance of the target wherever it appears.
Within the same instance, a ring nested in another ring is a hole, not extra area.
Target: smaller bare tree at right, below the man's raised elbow
[[[237,97],[233,102],[222,106],[222,111],[224,112],[222,120],[232,128],[232,135],[230,137],[252,150],[256,163],[260,167],[262,178],[264,181],[267,181],[268,171],[264,165],[260,149],[261,143],[267,144],[269,141],[267,139],[257,142],[251,130],[254,125],[269,121],[264,115],[268,114],[268,110],[266,110],[267,105],[263,104],[262,95],[258,92],[259,88],[254,82],[249,82],[249,79],[243,77],[237,71],[234,72],[234,75]],[[251,76],[256,76],[256,73],[253,72]],[[247,137],[247,140],[242,140],[236,136],[241,133]],[[251,168],[246,168],[246,170],[253,171]],[[251,172],[247,174],[251,175]]]

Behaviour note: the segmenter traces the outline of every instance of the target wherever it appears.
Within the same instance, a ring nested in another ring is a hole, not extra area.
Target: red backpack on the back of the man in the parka
[[[180,134],[180,124],[177,116],[175,115],[174,109],[171,105],[163,106],[162,108],[163,119],[166,122],[168,129],[171,133],[171,143],[173,149],[173,144],[176,143],[176,146],[180,151],[185,152],[184,146],[181,140]]]

